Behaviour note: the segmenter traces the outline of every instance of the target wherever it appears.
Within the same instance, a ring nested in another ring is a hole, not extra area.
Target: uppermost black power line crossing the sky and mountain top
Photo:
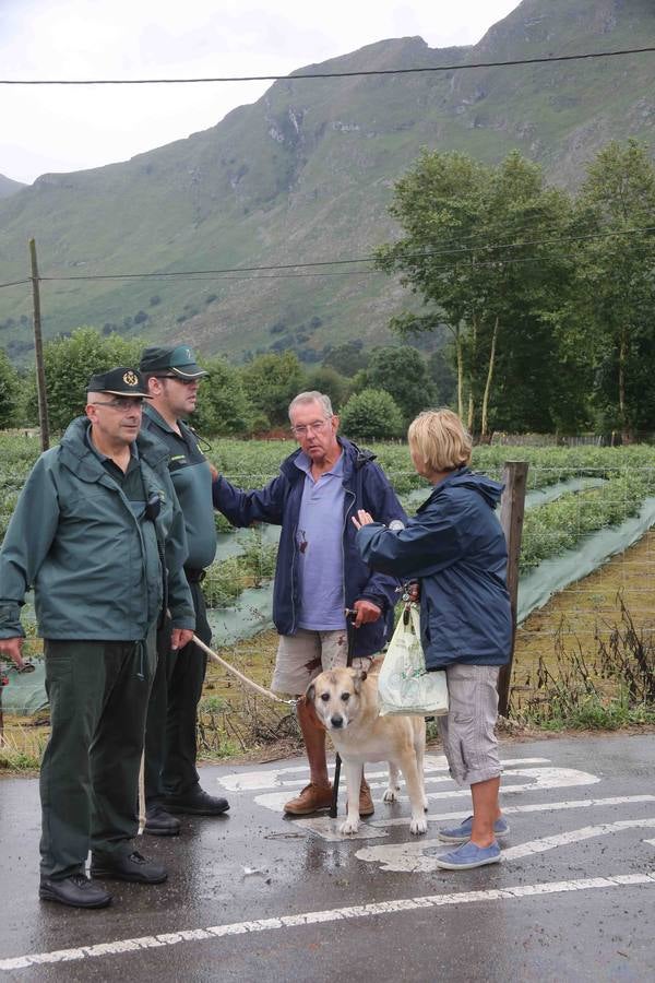
[[[186,85],[205,82],[295,82],[300,79],[353,79],[367,75],[409,75],[421,72],[458,72],[465,69],[511,68],[520,64],[550,64],[618,55],[644,55],[655,47],[620,48],[612,51],[584,51],[577,55],[548,55],[540,58],[512,58],[507,61],[472,61],[464,64],[418,66],[405,69],[362,69],[353,72],[303,72],[294,75],[214,75],[184,79],[0,79],[0,85]]]

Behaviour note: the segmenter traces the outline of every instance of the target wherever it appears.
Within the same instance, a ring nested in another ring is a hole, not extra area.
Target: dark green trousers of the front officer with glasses
[[[155,671],[145,642],[46,639],[51,732],[40,770],[41,875],[84,871],[88,850],[129,853]]]

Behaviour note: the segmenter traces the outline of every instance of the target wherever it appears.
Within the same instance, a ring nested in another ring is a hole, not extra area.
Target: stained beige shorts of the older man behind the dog
[[[345,665],[348,658],[348,633],[338,631],[308,631],[298,628],[296,635],[281,635],[271,689],[301,696],[320,673]],[[354,668],[367,670],[370,659],[354,659]]]

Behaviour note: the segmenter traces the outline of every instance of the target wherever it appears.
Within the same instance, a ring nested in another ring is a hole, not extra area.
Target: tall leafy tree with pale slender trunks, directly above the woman
[[[485,435],[498,365],[521,346],[517,315],[529,312],[532,336],[557,334],[571,277],[561,246],[567,196],[546,188],[540,169],[519,153],[493,168],[464,154],[424,151],[396,183],[390,211],[405,236],[378,251],[378,265],[401,272],[427,307],[391,327],[407,336],[445,324],[458,412],[467,398],[468,426]]]

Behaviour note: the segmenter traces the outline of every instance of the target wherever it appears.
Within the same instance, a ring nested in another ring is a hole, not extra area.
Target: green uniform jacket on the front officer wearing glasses
[[[0,638],[24,635],[20,607],[34,585],[44,638],[144,639],[163,601],[157,538],[172,626],[195,626],[182,569],[184,522],[166,449],[144,434],[136,440],[145,500],[157,494],[162,502],[153,522],[91,450],[87,428],[86,417],[74,419],[61,443],[38,459],[19,497],[0,550]]]

